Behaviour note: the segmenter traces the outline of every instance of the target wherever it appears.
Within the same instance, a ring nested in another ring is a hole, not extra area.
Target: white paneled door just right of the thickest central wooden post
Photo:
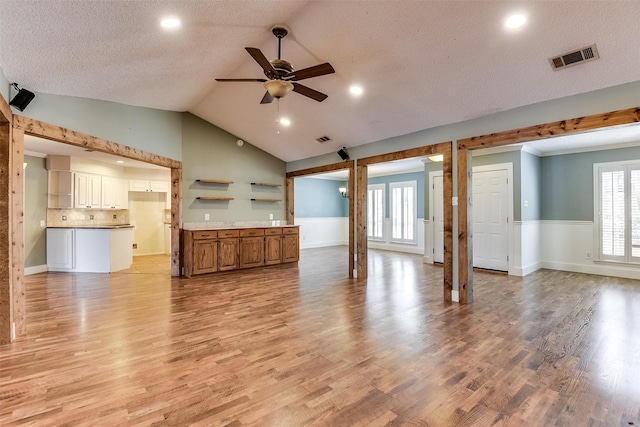
[[[473,266],[508,271],[508,174],[473,173]]]

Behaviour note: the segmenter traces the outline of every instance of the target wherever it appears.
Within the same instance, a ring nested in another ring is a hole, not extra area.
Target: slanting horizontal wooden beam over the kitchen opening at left
[[[117,142],[109,141],[107,139],[65,129],[60,126],[51,125],[28,117],[14,116],[13,127],[23,130],[24,133],[29,135],[35,135],[52,141],[75,145],[76,147],[88,148],[170,169],[182,168],[181,162],[168,157],[159,156],[127,145],[118,144]]]

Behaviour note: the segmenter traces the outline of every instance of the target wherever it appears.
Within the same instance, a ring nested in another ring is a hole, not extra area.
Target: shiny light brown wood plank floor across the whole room
[[[640,424],[640,281],[476,273],[343,248],[194,279],[166,257],[26,278],[27,334],[0,347],[0,425]]]

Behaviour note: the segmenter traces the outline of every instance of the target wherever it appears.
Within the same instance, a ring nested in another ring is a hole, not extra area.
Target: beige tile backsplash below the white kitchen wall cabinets
[[[47,227],[129,224],[128,209],[47,209]]]

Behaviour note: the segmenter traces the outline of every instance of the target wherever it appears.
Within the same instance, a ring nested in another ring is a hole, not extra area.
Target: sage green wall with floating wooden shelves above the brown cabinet
[[[184,222],[285,220],[285,163],[244,143],[193,114],[182,121],[182,218]],[[219,179],[233,184],[202,184],[197,179]],[[262,187],[252,182],[279,184]],[[198,196],[233,197],[230,201],[203,201]],[[253,202],[252,198],[279,199]]]

